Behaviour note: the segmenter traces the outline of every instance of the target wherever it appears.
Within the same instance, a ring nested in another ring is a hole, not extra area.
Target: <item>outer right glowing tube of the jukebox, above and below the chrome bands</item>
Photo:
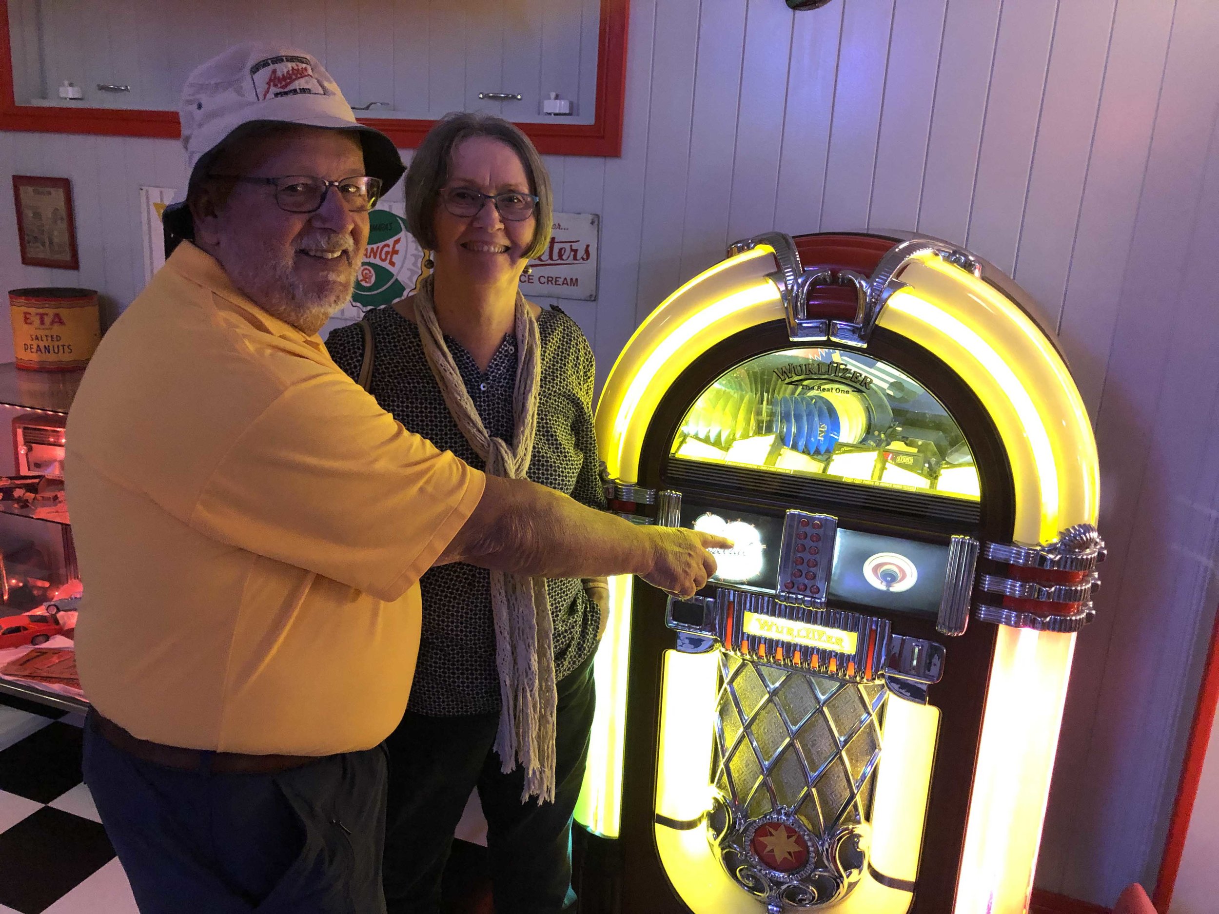
[[[1013,539],[1096,523],[1096,442],[1050,341],[998,290],[937,257],[901,279],[908,288],[878,323],[939,355],[991,414],[1015,485]],[[1074,635],[1006,626],[996,639],[954,914],[1028,909],[1075,646]]]

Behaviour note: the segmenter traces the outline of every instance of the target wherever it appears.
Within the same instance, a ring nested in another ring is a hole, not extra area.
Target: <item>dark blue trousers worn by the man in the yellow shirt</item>
[[[84,778],[141,914],[378,914],[385,751],[187,771],[84,734]]]

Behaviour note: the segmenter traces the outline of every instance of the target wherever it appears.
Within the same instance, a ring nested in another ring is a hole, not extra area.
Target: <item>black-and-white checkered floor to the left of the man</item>
[[[83,723],[0,695],[0,914],[138,914],[80,779]]]

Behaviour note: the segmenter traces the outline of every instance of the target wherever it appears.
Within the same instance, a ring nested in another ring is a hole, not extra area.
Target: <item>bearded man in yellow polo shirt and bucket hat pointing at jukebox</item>
[[[484,476],[330,361],[317,331],[402,165],[317,60],[234,48],[180,113],[193,241],[106,335],[67,433],[85,779],[145,914],[384,910],[380,743],[423,570],[692,593],[724,544]]]

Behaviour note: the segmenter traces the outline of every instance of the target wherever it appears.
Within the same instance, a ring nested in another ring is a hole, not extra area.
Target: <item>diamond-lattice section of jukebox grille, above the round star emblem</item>
[[[758,819],[794,810],[814,835],[870,818],[887,691],[720,652],[714,785]]]

